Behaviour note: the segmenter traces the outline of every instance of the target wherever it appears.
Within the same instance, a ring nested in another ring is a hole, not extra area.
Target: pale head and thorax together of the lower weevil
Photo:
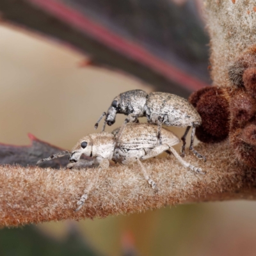
[[[70,160],[78,161],[82,154],[90,157],[112,159],[115,137],[109,132],[92,133],[81,138],[72,150]]]

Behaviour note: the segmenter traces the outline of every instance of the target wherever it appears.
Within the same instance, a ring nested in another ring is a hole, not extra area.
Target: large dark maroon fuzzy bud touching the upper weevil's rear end
[[[229,131],[229,106],[223,89],[206,87],[189,97],[189,101],[202,118],[202,125],[196,129],[196,137],[205,143],[225,140]]]

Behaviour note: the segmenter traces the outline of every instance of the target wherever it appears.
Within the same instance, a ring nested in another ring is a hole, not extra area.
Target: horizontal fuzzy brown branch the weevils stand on
[[[154,192],[143,177],[138,164],[116,165],[107,171],[53,170],[20,166],[0,167],[0,224],[3,226],[38,223],[51,220],[80,220],[155,209],[164,205],[221,199],[254,199],[255,170],[244,170],[228,149],[228,143],[200,144],[197,147],[207,162],[186,156],[207,173],[188,170],[168,156],[143,161],[157,182]],[[76,202],[95,175],[88,200],[75,212]]]

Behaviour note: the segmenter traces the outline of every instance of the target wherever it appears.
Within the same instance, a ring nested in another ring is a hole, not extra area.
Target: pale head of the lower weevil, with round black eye
[[[72,149],[69,161],[77,162],[83,154],[84,156],[92,156],[92,139],[90,136],[85,136],[76,143],[76,146]]]

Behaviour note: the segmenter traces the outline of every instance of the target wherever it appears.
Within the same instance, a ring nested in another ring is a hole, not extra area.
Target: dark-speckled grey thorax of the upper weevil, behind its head
[[[143,90],[131,90],[120,94],[120,113],[129,115],[134,113],[144,115],[144,106],[147,102],[147,92]]]

